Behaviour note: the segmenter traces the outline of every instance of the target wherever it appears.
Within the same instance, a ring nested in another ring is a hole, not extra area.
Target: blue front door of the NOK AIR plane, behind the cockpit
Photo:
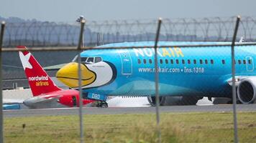
[[[122,74],[132,74],[132,58],[128,50],[122,50],[119,52],[122,63]]]

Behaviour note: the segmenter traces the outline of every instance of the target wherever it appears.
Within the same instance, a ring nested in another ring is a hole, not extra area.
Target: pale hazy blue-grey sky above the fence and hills
[[[255,16],[255,0],[1,0],[0,16],[40,21]]]

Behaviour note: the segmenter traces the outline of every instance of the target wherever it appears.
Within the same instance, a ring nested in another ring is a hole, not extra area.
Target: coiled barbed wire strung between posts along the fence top
[[[204,19],[163,19],[160,41],[231,41],[235,17]],[[157,20],[88,21],[86,46],[124,41],[154,41]],[[79,24],[49,21],[9,22],[4,46],[76,46]],[[256,19],[244,17],[237,37],[256,41]]]

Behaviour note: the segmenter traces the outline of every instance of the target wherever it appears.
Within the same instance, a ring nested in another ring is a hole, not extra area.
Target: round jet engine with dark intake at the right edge
[[[237,97],[242,104],[251,104],[256,99],[256,77],[249,77],[238,84]]]

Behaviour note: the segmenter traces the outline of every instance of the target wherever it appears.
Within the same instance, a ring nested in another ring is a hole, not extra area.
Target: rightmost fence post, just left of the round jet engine
[[[237,16],[237,22],[234,27],[234,35],[232,39],[232,45],[231,45],[231,58],[232,58],[232,98],[233,98],[233,118],[234,118],[234,142],[238,143],[238,137],[237,137],[237,92],[236,92],[236,85],[235,85],[235,67],[234,67],[234,45],[235,41],[237,39],[237,30],[239,26],[240,16]]]

